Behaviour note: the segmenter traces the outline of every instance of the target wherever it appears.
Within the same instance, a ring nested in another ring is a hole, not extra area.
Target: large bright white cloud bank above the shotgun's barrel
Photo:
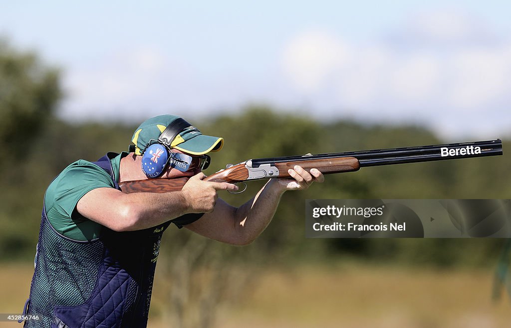
[[[495,120],[491,113],[505,113],[511,102],[510,40],[496,42],[480,21],[454,11],[423,14],[400,28],[370,46],[303,31],[283,51],[288,81],[319,110],[328,99],[343,111],[336,115],[421,120],[444,135],[507,130],[511,114]]]

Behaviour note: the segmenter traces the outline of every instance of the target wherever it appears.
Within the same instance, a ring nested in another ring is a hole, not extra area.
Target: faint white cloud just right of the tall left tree
[[[178,75],[176,67],[160,50],[137,47],[109,54],[101,65],[69,68],[65,114],[97,118],[114,117],[120,108],[147,110],[147,105],[154,105],[153,98],[161,100],[168,94],[162,77]]]

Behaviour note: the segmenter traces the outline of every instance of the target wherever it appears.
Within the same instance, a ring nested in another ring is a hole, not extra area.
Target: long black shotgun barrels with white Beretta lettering
[[[369,167],[400,163],[413,163],[433,160],[484,157],[496,155],[502,155],[502,141],[500,139],[431,146],[375,149],[340,153],[324,153],[306,156],[257,158],[252,159],[252,167],[257,168],[260,165],[274,164],[277,162],[327,159],[337,157],[355,157],[359,160],[360,167]]]

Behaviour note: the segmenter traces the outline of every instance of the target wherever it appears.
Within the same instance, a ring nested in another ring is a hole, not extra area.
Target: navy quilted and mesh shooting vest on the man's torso
[[[110,162],[115,155],[108,153],[95,164],[119,189]],[[138,231],[104,227],[99,238],[77,241],[59,234],[43,208],[30,298],[24,309],[41,320],[26,321],[24,327],[145,327],[161,235],[171,223],[181,227],[201,216],[187,214]]]

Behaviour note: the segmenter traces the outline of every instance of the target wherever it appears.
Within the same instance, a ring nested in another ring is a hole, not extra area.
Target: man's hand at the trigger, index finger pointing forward
[[[191,177],[181,189],[191,213],[210,213],[215,209],[217,190],[238,190],[238,186],[227,182],[203,181],[204,173]]]

